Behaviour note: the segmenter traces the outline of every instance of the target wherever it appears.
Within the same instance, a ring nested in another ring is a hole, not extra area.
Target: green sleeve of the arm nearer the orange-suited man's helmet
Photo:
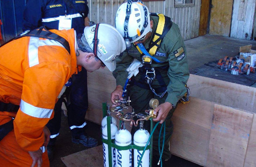
[[[116,79],[116,85],[121,85],[124,87],[128,76],[126,69],[129,67],[132,61],[133,57],[128,54],[127,50],[121,53],[121,55],[116,59],[116,69],[113,72]]]

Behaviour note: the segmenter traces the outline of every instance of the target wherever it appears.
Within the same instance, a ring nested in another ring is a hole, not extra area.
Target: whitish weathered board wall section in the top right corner
[[[234,0],[230,37],[252,38],[256,0]]]

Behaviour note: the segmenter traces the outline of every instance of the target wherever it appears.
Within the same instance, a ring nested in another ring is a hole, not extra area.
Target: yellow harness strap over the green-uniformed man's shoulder
[[[164,31],[164,27],[165,27],[165,16],[163,14],[158,14],[159,20],[158,20],[158,24],[156,27],[156,31],[154,34],[154,38],[153,38],[153,42],[155,42],[158,38],[160,38],[160,36],[163,34]],[[158,35],[160,36],[158,36]],[[161,40],[159,42],[157,42],[157,44],[159,45],[161,43]],[[153,46],[150,50],[149,50],[149,54],[154,55],[155,52],[157,50],[157,46]]]

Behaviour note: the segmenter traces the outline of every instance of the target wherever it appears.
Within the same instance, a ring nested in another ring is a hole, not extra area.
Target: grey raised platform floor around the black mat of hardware
[[[225,56],[235,57],[239,47],[252,45],[256,50],[256,41],[242,40],[216,35],[204,35],[184,41],[187,48],[189,70],[193,70],[209,61],[219,60]]]

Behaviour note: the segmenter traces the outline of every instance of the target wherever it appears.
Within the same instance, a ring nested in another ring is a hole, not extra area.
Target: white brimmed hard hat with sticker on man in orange
[[[97,33],[95,34],[95,32]],[[115,27],[108,24],[96,24],[91,27],[85,27],[84,35],[93,53],[111,72],[114,71],[116,67],[115,59],[126,49],[122,35]],[[94,40],[94,38],[98,40]]]

